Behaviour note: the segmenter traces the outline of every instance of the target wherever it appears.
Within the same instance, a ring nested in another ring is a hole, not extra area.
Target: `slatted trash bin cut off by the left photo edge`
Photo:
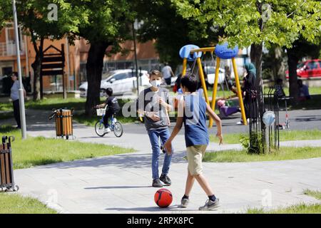
[[[1,191],[17,191],[14,185],[14,165],[12,162],[11,142],[14,136],[3,136],[0,145],[0,189]]]

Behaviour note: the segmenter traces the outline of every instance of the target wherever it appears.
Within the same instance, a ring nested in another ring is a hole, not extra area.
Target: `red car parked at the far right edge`
[[[289,71],[285,71],[286,78],[289,78]],[[297,65],[297,77],[311,78],[321,77],[321,59],[304,61]]]

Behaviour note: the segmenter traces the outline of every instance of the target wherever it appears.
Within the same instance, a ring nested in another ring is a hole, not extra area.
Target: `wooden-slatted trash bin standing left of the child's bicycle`
[[[65,137],[73,136],[73,109],[57,109],[51,114],[49,120],[55,117],[56,120],[56,136]]]

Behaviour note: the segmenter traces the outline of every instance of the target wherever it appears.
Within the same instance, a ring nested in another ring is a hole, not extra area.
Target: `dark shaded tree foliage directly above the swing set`
[[[138,19],[143,21],[138,37],[143,42],[155,39],[161,61],[173,68],[182,62],[178,55],[182,46],[190,43],[208,46],[218,42],[219,31],[211,29],[210,23],[184,19],[170,0],[137,1],[136,9]]]

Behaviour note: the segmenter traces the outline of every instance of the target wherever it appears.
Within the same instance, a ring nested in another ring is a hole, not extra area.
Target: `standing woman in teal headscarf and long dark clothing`
[[[257,90],[255,86],[256,82],[256,69],[253,63],[245,63],[245,74],[244,74],[244,85],[243,85],[243,94],[244,94],[244,108],[246,118],[257,118],[258,108],[255,100],[257,96]],[[241,120],[242,123],[242,120]]]

